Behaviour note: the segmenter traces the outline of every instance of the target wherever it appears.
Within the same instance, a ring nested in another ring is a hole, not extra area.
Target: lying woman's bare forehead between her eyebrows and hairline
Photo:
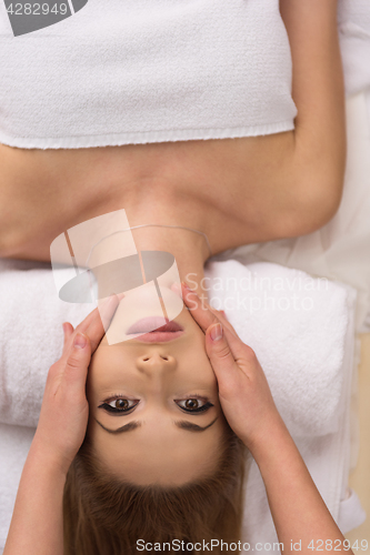
[[[94,448],[107,470],[139,485],[180,485],[216,468],[222,445],[223,422],[201,433],[179,430],[170,418],[148,421],[122,436],[96,430]]]

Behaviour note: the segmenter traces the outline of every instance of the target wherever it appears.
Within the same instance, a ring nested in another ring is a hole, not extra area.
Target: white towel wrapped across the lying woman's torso
[[[0,2],[0,142],[83,148],[294,128],[279,0],[89,0],[13,37]]]

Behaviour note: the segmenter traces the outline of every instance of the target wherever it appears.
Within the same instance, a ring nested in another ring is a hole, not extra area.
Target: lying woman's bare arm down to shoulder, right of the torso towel
[[[322,206],[322,225],[339,206],[346,170],[337,4],[338,0],[280,0],[292,56],[292,97],[298,109],[291,172],[303,210]]]

